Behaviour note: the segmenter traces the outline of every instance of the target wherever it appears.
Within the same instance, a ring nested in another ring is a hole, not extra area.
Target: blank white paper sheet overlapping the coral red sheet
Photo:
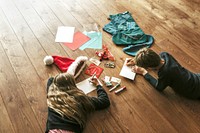
[[[75,27],[59,26],[55,42],[68,42],[72,43],[74,38]]]

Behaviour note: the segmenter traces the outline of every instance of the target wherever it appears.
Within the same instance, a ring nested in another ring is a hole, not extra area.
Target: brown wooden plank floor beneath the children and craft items
[[[199,0],[0,0],[0,133],[45,131],[46,81],[59,73],[55,66],[44,65],[46,55],[95,56],[94,49],[71,51],[55,43],[58,26],[83,31],[97,23],[102,31],[110,14],[130,11],[142,30],[154,36],[153,50],[167,51],[189,70],[200,72],[199,7]],[[139,75],[135,81],[120,77],[130,56],[102,33],[117,67],[104,68],[103,61],[101,78],[121,78],[127,91],[115,95],[105,87],[111,106],[93,113],[84,133],[199,133],[200,101],[185,99],[171,88],[159,93]],[[87,77],[83,73],[77,82]]]

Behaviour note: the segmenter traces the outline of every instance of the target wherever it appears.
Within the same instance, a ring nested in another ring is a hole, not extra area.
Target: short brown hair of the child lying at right
[[[154,68],[159,66],[161,58],[153,50],[149,48],[142,48],[137,52],[134,61],[137,66]]]

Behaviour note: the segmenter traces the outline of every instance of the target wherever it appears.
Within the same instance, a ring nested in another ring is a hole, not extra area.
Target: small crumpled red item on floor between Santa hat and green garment
[[[115,60],[114,56],[108,50],[108,47],[106,45],[103,45],[103,51],[102,52],[96,51],[96,54],[97,54],[97,56],[100,57],[100,61],[102,61],[102,60],[111,60],[111,61],[114,61]]]

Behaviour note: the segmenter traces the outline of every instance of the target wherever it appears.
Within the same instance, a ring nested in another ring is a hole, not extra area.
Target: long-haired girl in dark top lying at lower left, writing
[[[97,78],[92,77],[90,82],[97,88],[97,97],[89,97],[79,90],[74,77],[68,73],[49,78],[46,133],[81,133],[87,114],[110,105],[108,95]]]

